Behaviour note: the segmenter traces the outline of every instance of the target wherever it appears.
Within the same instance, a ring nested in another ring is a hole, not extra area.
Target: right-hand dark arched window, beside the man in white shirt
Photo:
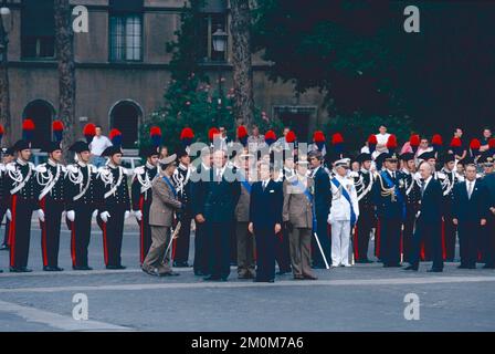
[[[143,110],[133,101],[120,101],[110,111],[110,128],[122,132],[122,146],[136,148]]]

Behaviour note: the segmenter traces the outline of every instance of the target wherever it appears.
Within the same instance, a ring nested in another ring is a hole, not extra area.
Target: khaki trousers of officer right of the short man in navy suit
[[[294,228],[289,232],[291,263],[294,277],[313,275],[312,272],[312,229]]]

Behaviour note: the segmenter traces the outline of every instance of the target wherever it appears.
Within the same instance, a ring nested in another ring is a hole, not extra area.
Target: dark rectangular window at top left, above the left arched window
[[[21,12],[21,55],[24,59],[55,58],[53,0],[24,0]]]

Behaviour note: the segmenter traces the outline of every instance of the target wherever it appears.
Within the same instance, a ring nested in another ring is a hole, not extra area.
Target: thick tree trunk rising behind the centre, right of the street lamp
[[[251,65],[251,11],[249,0],[231,0],[232,64],[235,119],[253,124],[253,69]]]

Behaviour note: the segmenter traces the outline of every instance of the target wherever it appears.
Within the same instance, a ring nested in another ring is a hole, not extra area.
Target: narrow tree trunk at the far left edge
[[[0,46],[3,46],[2,60],[0,62],[0,124],[3,125],[3,145],[10,146],[12,144],[13,134],[10,125],[10,88],[9,88],[9,72],[7,59],[8,39],[3,30],[3,23],[0,20]]]

